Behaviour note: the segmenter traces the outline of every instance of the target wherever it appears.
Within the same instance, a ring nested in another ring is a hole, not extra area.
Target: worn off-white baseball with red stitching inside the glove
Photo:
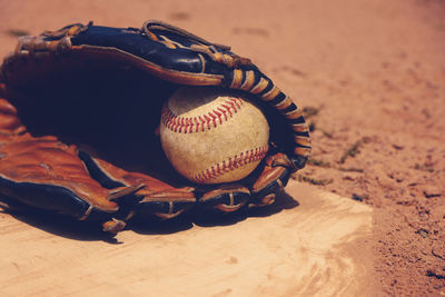
[[[197,184],[237,181],[266,156],[269,126],[247,98],[182,87],[162,108],[160,140],[171,165]]]

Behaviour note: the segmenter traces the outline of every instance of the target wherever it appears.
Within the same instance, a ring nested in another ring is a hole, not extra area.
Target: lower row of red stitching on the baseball
[[[233,158],[228,158],[227,160],[222,160],[219,164],[207,168],[195,176],[195,180],[198,182],[206,182],[209,179],[218,178],[225,174],[230,172],[239,167],[246,166],[248,164],[261,160],[269,149],[269,146],[265,146],[261,148],[255,148],[251,150],[247,150],[238,155],[235,155]]]

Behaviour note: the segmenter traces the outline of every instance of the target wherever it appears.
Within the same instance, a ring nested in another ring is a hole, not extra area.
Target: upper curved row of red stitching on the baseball
[[[224,101],[219,107],[209,111],[207,115],[198,117],[186,118],[176,115],[168,103],[164,105],[161,120],[165,127],[178,133],[196,133],[199,131],[210,130],[218,125],[222,125],[238,112],[243,106],[243,100],[239,98],[230,97]]]

